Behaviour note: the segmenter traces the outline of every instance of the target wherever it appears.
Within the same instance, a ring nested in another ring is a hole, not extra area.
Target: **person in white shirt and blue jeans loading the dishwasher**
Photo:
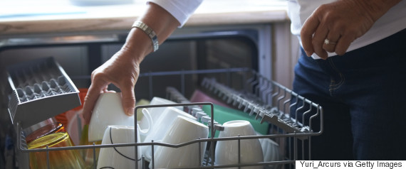
[[[147,2],[123,48],[92,72],[87,123],[108,84],[121,89],[126,114],[134,113],[140,62],[201,3]],[[312,159],[405,160],[397,138],[406,129],[405,9],[405,0],[288,0],[291,31],[303,47],[293,91],[320,104],[326,117],[325,132],[312,138]]]

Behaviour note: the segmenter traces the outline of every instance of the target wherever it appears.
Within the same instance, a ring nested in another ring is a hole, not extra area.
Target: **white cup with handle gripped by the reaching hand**
[[[142,111],[146,121],[152,125],[152,117],[147,111]],[[123,109],[121,93],[102,93],[93,108],[90,118],[88,139],[90,142],[101,141],[105,129],[109,125],[134,126],[134,115],[127,116]],[[150,126],[147,126],[150,129]],[[142,132],[146,135],[147,132]]]

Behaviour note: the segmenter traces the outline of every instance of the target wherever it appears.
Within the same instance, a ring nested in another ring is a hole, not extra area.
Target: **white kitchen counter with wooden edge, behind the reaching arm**
[[[0,38],[38,33],[129,30],[145,9],[145,0],[113,6],[73,6],[68,0],[34,2],[0,3]],[[279,21],[288,21],[286,1],[283,0],[206,0],[185,27]]]

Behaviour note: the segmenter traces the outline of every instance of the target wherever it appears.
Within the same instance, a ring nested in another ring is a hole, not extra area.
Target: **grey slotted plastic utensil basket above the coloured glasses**
[[[51,57],[11,65],[7,75],[11,122],[20,122],[22,128],[80,106],[78,89]]]

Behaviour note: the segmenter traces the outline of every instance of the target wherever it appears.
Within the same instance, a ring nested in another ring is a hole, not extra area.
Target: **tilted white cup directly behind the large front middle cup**
[[[147,111],[145,109],[145,111]],[[165,133],[169,131],[170,127],[175,124],[175,119],[177,116],[184,116],[187,119],[191,119],[196,121],[196,117],[187,114],[186,112],[176,109],[174,107],[165,107],[165,110],[157,114],[158,116],[155,117],[155,120],[152,119],[152,127],[148,134],[145,136],[145,140],[142,141],[144,143],[150,143],[151,141],[160,142],[165,136]],[[152,152],[150,146],[142,146],[142,155],[145,156],[145,160],[150,161]]]

